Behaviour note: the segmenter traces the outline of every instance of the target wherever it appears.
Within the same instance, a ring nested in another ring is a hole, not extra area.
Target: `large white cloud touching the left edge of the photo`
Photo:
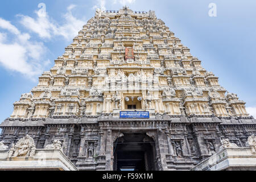
[[[42,60],[46,52],[43,43],[31,41],[29,34],[22,34],[18,28],[2,18],[0,31],[0,64],[7,70],[37,80],[35,76],[42,73],[49,63],[49,60]]]

